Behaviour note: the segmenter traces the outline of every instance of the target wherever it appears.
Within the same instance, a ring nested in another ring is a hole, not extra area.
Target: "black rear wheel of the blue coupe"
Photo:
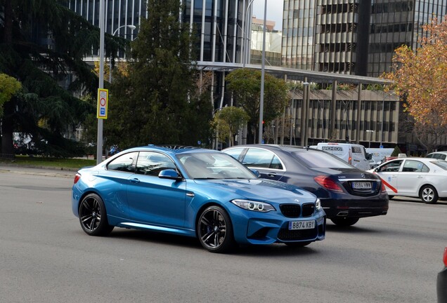
[[[107,220],[103,199],[97,194],[88,194],[79,203],[79,223],[90,236],[107,236],[113,229]]]

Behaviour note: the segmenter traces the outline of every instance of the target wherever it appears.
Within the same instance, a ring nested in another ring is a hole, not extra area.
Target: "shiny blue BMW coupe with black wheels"
[[[214,253],[236,243],[302,247],[325,238],[325,212],[315,195],[261,180],[209,149],[136,147],[82,168],[72,211],[91,236],[114,227],[162,231],[197,237]]]

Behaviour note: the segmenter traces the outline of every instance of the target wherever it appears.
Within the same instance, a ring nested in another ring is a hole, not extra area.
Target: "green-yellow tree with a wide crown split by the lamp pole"
[[[228,90],[231,90],[239,107],[250,116],[248,141],[254,142],[255,128],[259,122],[259,100],[261,96],[261,72],[255,69],[236,69],[226,76]],[[288,88],[282,79],[270,74],[264,77],[264,123],[270,123],[283,113],[288,101]]]

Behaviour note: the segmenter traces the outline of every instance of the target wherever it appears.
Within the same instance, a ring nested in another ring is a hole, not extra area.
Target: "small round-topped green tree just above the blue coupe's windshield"
[[[213,125],[219,133],[219,139],[230,139],[230,146],[234,145],[234,136],[245,126],[250,116],[240,107],[224,107],[214,115]]]

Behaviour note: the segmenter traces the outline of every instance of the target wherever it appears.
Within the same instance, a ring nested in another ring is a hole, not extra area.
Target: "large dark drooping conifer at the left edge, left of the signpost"
[[[41,140],[48,153],[61,155],[72,146],[63,134],[95,112],[91,100],[73,93],[96,96],[98,78],[84,62],[99,47],[99,29],[67,8],[67,0],[0,0],[0,72],[22,83],[24,95],[4,104],[1,120],[3,154],[13,154],[13,131]],[[45,41],[41,43],[40,41]],[[105,53],[112,59],[126,40],[106,36]],[[72,83],[59,85],[72,74]]]

